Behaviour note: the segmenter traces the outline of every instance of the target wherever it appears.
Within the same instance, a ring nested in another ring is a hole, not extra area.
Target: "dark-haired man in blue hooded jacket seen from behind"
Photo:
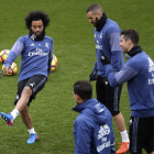
[[[110,111],[92,97],[87,80],[74,84],[73,110],[80,114],[74,122],[75,154],[114,154],[114,135]]]

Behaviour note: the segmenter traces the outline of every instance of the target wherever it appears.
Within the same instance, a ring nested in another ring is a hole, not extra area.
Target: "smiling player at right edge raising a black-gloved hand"
[[[121,32],[120,46],[128,62],[114,74],[110,59],[102,52],[101,62],[112,87],[128,81],[130,118],[130,152],[154,154],[154,62],[144,53],[135,30]]]

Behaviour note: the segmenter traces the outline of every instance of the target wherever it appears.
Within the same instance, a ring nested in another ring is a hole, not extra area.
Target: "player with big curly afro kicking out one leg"
[[[25,25],[30,33],[15,42],[4,62],[7,75],[12,62],[21,54],[18,92],[14,100],[15,108],[9,114],[1,112],[1,118],[7,121],[8,125],[12,125],[14,119],[21,113],[21,118],[30,132],[28,144],[32,144],[38,139],[32,124],[29,107],[36,94],[44,88],[51,74],[53,38],[45,35],[45,29],[48,24],[47,14],[43,11],[31,11],[25,18]]]

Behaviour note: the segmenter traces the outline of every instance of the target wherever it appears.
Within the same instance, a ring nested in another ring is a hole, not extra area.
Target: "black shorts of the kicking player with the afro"
[[[30,100],[28,102],[28,106],[30,106],[30,102],[32,101],[32,99],[35,99],[36,94],[44,88],[46,79],[47,78],[43,75],[34,75],[30,78],[26,78],[24,80],[19,81],[18,92],[16,92],[16,97],[15,97],[15,100],[14,100],[14,105],[16,105],[16,102],[21,98],[21,94],[22,94],[23,88],[25,86],[29,86],[33,91],[33,95],[30,97]]]

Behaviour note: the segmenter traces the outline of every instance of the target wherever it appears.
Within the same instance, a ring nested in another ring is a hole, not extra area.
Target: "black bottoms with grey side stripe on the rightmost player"
[[[131,154],[142,154],[143,148],[154,152],[154,117],[131,117],[129,129]]]

